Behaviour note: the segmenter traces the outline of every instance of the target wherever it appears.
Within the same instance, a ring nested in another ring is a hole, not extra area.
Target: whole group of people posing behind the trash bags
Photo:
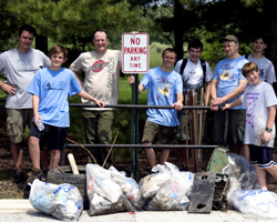
[[[85,141],[91,144],[111,143],[114,110],[105,104],[116,104],[119,99],[121,52],[107,49],[106,31],[96,30],[92,37],[95,49],[81,53],[69,69],[62,68],[68,59],[64,47],[54,46],[47,57],[31,48],[34,37],[33,27],[22,26],[18,47],[0,54],[0,73],[8,82],[0,81],[0,89],[8,93],[7,131],[16,183],[24,180],[20,144],[25,125],[30,128],[29,152],[33,167],[27,182],[31,183],[37,178],[45,179],[48,170],[60,162],[70,127],[68,97],[78,94],[83,104],[89,104],[83,108],[82,119]],[[176,62],[176,52],[167,48],[162,54],[162,65],[143,75],[138,93],[148,89],[147,104],[172,105],[172,109],[147,109],[142,143],[152,144],[156,139],[160,144],[172,144],[178,134],[178,143],[185,144],[184,95],[188,90],[199,91],[205,84],[204,104],[215,111],[215,143],[224,141],[228,110],[228,144],[238,147],[239,153],[255,164],[259,185],[267,189],[266,171],[277,180],[273,160],[277,99],[271,87],[276,75],[273,63],[263,56],[267,42],[264,37],[255,38],[254,52],[246,57],[239,54],[235,36],[219,38],[219,42],[227,58],[216,64],[214,74],[201,59],[203,43],[192,39],[187,59]],[[85,73],[83,81],[80,71]],[[131,75],[129,81],[134,83],[134,78]],[[43,130],[38,128],[39,122],[44,124]],[[148,147],[144,151],[151,168],[155,167],[155,151]],[[181,153],[181,170],[187,171],[186,150],[182,149]],[[93,149],[93,154],[103,164],[107,150]],[[168,157],[170,149],[163,149],[160,163],[164,164]]]

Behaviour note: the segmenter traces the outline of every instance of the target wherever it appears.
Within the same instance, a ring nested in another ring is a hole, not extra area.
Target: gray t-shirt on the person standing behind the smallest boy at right
[[[260,80],[267,83],[276,82],[274,64],[269,59],[265,57],[263,57],[261,59],[254,59],[252,54],[249,54],[247,59],[258,65]]]

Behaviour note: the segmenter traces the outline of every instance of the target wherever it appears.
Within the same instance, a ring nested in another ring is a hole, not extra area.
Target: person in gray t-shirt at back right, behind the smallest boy
[[[267,47],[267,38],[265,36],[256,36],[253,43],[253,53],[246,56],[250,62],[255,62],[259,68],[259,79],[271,84],[276,82],[276,74],[273,62],[263,56],[263,51]]]

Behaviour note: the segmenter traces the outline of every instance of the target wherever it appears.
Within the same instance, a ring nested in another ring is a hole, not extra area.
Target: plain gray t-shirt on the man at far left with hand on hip
[[[17,48],[0,54],[0,73],[7,77],[10,85],[18,85],[14,95],[9,94],[6,108],[30,109],[32,108],[32,95],[27,92],[34,73],[44,67],[50,67],[50,59],[41,51],[30,49],[27,53]]]

